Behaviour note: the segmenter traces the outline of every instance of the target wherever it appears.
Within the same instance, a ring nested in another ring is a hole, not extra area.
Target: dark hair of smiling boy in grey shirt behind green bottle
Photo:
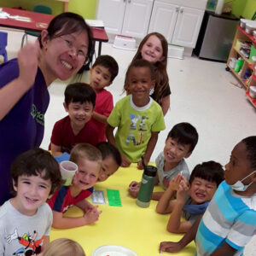
[[[189,152],[192,152],[198,142],[198,133],[193,125],[189,123],[179,123],[172,127],[168,133],[167,138],[177,140],[177,143],[182,145],[189,145]]]

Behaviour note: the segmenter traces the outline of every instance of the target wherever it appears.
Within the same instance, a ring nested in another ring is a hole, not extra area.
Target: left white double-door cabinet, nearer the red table
[[[99,0],[97,19],[103,20],[107,32],[143,38],[154,0]]]

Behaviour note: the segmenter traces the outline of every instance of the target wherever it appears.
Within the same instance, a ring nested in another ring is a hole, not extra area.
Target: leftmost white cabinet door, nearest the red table
[[[127,0],[99,0],[97,19],[103,20],[107,32],[119,34],[122,31]]]

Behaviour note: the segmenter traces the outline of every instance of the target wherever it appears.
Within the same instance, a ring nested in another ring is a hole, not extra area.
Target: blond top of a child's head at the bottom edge
[[[85,256],[84,249],[77,241],[59,238],[49,243],[42,256]]]

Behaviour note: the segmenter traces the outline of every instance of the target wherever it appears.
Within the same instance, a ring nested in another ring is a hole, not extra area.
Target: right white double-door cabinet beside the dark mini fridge
[[[148,32],[160,32],[169,44],[195,48],[207,0],[155,0]]]

